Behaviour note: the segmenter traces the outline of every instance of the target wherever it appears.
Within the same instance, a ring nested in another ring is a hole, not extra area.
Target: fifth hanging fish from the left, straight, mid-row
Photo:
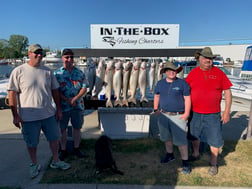
[[[129,106],[127,97],[128,97],[131,67],[132,67],[131,61],[127,61],[123,63],[123,89],[122,89],[122,96],[123,96],[122,105],[123,106]]]

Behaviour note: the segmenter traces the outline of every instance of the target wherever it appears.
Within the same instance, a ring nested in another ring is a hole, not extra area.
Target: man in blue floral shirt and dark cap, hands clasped
[[[87,92],[87,84],[84,73],[73,65],[74,53],[71,49],[64,49],[62,52],[63,67],[55,71],[56,79],[60,85],[62,120],[61,128],[61,153],[59,158],[64,160],[67,157],[67,128],[68,122],[71,120],[73,128],[74,155],[79,158],[84,154],[79,149],[81,140],[81,128],[84,116],[84,100],[83,96]]]

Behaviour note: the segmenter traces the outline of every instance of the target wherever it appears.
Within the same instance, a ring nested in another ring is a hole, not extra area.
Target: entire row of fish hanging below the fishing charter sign
[[[96,68],[95,62],[88,64],[87,80],[89,95],[97,99],[105,93],[106,107],[128,106],[136,104],[136,93],[140,91],[140,102],[148,102],[146,88],[153,93],[154,86],[162,79],[160,70],[164,62],[148,60],[100,60]],[[114,95],[115,100],[111,100]]]

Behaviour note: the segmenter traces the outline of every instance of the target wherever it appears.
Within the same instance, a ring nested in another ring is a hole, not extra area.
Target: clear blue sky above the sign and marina
[[[179,24],[179,44],[252,43],[251,0],[0,0],[0,39],[90,47],[91,24]]]

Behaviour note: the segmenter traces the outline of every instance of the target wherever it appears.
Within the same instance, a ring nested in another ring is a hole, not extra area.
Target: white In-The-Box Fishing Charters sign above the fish
[[[168,49],[179,46],[179,24],[91,24],[92,49]]]

